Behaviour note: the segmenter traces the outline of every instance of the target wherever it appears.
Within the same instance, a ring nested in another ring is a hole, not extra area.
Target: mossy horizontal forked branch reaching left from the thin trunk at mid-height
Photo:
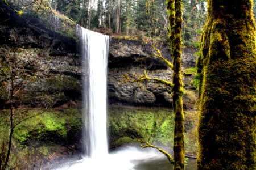
[[[135,78],[134,78],[135,77]],[[159,78],[150,78],[148,75],[147,75],[147,72],[146,70],[144,70],[144,75],[138,75],[138,74],[133,74],[133,77],[132,76],[129,76],[128,74],[126,74],[125,76],[122,76],[122,78],[125,79],[125,81],[121,81],[122,84],[123,83],[135,83],[135,82],[138,82],[138,83],[141,83],[143,81],[147,81],[147,80],[153,80],[155,82],[158,82],[158,83],[161,83],[161,84],[164,84],[168,87],[172,87],[174,86],[172,84],[172,82],[168,82],[167,80],[163,80],[163,79],[159,79]]]

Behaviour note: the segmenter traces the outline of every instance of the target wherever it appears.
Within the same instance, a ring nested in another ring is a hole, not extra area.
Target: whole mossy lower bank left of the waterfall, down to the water
[[[46,162],[64,158],[80,150],[81,110],[13,111],[15,128],[9,169],[40,169]],[[4,154],[9,138],[9,113],[9,110],[0,111],[1,154]]]

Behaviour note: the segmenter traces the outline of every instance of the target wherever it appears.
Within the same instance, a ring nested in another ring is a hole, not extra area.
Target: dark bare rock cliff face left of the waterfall
[[[0,15],[0,105],[8,105],[13,77],[15,103],[26,107],[81,100],[81,59],[75,39],[27,24],[13,11]],[[12,70],[12,73],[11,73]]]

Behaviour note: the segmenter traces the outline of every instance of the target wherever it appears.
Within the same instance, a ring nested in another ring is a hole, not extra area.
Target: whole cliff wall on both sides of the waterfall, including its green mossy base
[[[2,3],[0,1],[1,7],[3,7]],[[16,104],[16,107],[60,109],[60,111],[44,113],[42,117],[31,118],[28,124],[20,125],[19,129],[26,130],[18,133],[15,141],[34,148],[51,146],[54,142],[56,145],[53,146],[53,150],[56,151],[49,158],[58,157],[56,153],[59,157],[71,155],[73,151],[80,150],[83,140],[81,138],[82,111],[77,108],[81,104],[82,74],[85,69],[82,68],[79,42],[77,38],[61,35],[43,25],[27,24],[13,11],[1,7],[0,109],[10,107],[11,78],[14,85],[13,104]],[[156,47],[161,49],[163,56],[171,61],[167,43],[160,43]],[[153,52],[150,43],[112,37],[108,59],[109,104],[172,107],[171,88],[152,81],[124,82],[123,76],[143,75],[144,70],[147,70],[147,75],[151,78],[171,82],[172,70],[159,58],[152,56]],[[183,50],[183,70],[195,67],[194,52],[195,50],[191,49]],[[190,86],[193,74],[186,75],[183,76],[184,108],[191,109],[196,102],[196,92],[195,88]],[[71,106],[77,108],[64,109]],[[159,142],[172,143],[168,141],[172,140],[169,138],[172,125],[168,125],[166,129],[167,123],[164,123],[168,121],[169,124],[169,120],[173,120],[170,109],[159,111],[157,108],[154,112],[140,109],[135,111],[134,107],[127,107],[127,109],[109,107],[108,128],[111,146],[130,142],[130,139],[133,141],[134,134],[137,137],[146,138],[147,133],[150,134],[150,131],[155,128],[155,122],[161,122],[157,125],[165,130],[161,133],[165,135],[164,140],[167,141]],[[34,111],[31,111],[32,114]],[[189,117],[190,114],[187,115]],[[143,118],[146,120],[144,121]],[[123,125],[120,121],[123,121]],[[193,122],[187,122],[185,126],[189,129]],[[21,135],[20,138],[19,135]],[[162,138],[162,135],[160,137]],[[124,140],[127,138],[129,140]],[[63,146],[67,147],[63,149]]]

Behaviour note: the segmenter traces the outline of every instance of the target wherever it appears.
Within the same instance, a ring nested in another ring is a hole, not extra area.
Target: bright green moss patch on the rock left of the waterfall
[[[0,135],[3,137],[0,139],[0,143],[2,143],[8,136],[9,111],[3,110],[0,113]],[[82,129],[82,114],[78,109],[65,109],[64,111],[15,110],[14,117],[17,125],[14,128],[13,137],[15,145],[19,147],[34,146],[36,148],[43,145],[47,147],[51,142],[61,145],[68,141],[68,137],[72,137],[76,131]]]

